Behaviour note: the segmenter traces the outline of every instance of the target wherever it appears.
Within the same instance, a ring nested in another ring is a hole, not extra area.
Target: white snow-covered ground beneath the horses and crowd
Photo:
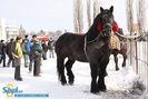
[[[122,58],[119,56],[119,66],[121,66]],[[106,77],[107,92],[99,95],[90,93],[90,68],[88,63],[76,62],[73,65],[75,85],[61,86],[58,81],[56,58],[42,61],[41,77],[33,77],[28,73],[28,68],[21,67],[21,76],[23,81],[16,81],[13,79],[13,68],[0,68],[0,99],[8,99],[3,93],[3,87],[8,83],[13,85],[22,91],[22,93],[48,93],[48,98],[11,98],[11,99],[139,99],[141,92],[134,91],[134,83],[138,81],[131,67],[127,62],[127,67],[119,67],[119,71],[115,71],[115,63],[112,56],[108,65]],[[137,90],[137,89],[136,89]],[[147,98],[145,98],[147,99]]]

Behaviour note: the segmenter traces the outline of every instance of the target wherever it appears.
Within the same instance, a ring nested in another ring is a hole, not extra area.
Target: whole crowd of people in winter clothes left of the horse
[[[3,68],[14,68],[14,80],[22,81],[20,67],[21,58],[23,58],[24,67],[29,68],[29,72],[33,71],[34,77],[41,77],[41,61],[47,60],[47,52],[49,50],[49,58],[53,56],[55,40],[40,41],[36,34],[29,40],[28,36],[11,38],[9,42],[0,41],[0,65]],[[6,58],[8,62],[6,61]],[[6,63],[7,62],[7,63]],[[32,70],[33,69],[33,70]]]

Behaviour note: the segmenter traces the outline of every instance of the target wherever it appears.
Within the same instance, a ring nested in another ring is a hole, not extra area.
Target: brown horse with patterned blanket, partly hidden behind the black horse
[[[121,28],[119,28],[118,30],[118,33],[119,34],[124,34],[124,31]],[[118,49],[112,49],[112,55],[114,55],[114,58],[115,58],[115,65],[116,65],[116,70],[119,70],[119,67],[118,67],[118,57],[117,55],[120,53],[122,55],[122,58],[124,58],[124,61],[122,61],[122,67],[126,67],[126,59],[127,59],[127,43],[126,43],[126,39],[125,38],[121,38],[119,37],[118,34],[116,34],[119,40],[120,40],[120,50]]]

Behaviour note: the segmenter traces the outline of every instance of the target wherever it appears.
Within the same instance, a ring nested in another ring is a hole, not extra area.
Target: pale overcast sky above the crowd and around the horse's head
[[[4,18],[7,24],[22,24],[27,31],[73,30],[72,0],[0,0],[0,18]],[[119,27],[126,29],[125,0],[100,0],[100,3],[103,8],[112,4],[116,21]],[[83,23],[87,24],[86,21]]]

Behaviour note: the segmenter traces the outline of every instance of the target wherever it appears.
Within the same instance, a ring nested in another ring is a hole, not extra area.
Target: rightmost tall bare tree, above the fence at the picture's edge
[[[142,33],[146,30],[146,0],[137,0],[137,22],[139,33]]]

